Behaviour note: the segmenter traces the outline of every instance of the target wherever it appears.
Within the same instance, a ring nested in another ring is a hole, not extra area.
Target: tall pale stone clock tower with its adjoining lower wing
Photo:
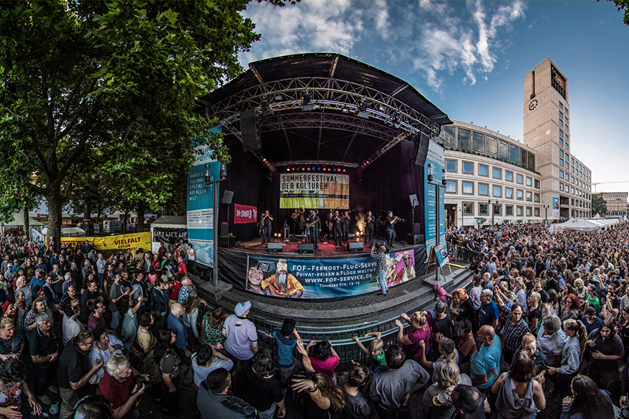
[[[535,150],[542,202],[553,203],[553,198],[558,198],[553,216],[589,218],[593,215],[592,172],[570,151],[568,98],[567,77],[550,58],[526,74],[523,142]]]

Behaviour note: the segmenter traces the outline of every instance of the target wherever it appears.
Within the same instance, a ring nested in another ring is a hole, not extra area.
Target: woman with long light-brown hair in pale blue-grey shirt
[[[588,341],[588,332],[579,320],[569,319],[563,324],[563,332],[565,332],[568,338],[561,350],[561,366],[549,367],[548,374],[557,374],[557,388],[558,395],[565,397],[570,394],[568,389],[570,388],[568,383],[572,381],[581,362],[583,362],[583,354],[586,351],[586,344]]]

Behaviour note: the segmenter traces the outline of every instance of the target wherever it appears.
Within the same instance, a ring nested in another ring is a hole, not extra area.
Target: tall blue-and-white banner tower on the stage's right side
[[[431,165],[428,168],[428,165]],[[428,175],[433,175],[433,183],[441,184],[444,159],[443,147],[436,142],[428,143],[428,154],[424,163],[424,220],[426,232],[426,254],[431,253],[431,248],[437,243],[437,210],[439,209],[440,243],[445,243],[444,220],[444,188],[428,183]],[[436,190],[435,190],[436,189]],[[437,196],[437,190],[439,196]],[[439,199],[439,205],[437,205]]]

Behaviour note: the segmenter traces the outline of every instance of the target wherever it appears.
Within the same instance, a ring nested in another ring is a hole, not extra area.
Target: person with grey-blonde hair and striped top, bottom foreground
[[[435,383],[426,389],[422,402],[429,409],[431,419],[452,418],[456,408],[450,400],[451,390],[459,384],[472,385],[472,380],[467,374],[461,374],[453,360],[440,362],[435,368],[434,377]]]

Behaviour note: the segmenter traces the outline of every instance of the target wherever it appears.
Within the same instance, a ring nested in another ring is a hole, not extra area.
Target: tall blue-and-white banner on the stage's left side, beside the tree
[[[222,126],[212,128],[222,131]],[[205,165],[210,166],[210,181],[219,179],[221,163],[214,159],[212,149],[198,146],[188,173],[186,218],[188,243],[194,244],[196,263],[212,267],[214,256],[214,214],[212,184],[205,184]]]

